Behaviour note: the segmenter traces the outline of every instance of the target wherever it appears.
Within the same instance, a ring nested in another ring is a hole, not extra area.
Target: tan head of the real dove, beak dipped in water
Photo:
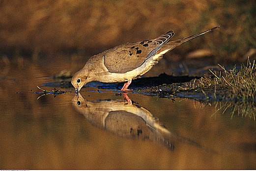
[[[87,72],[83,69],[76,72],[74,76],[72,77],[71,84],[75,87],[76,92],[79,92],[80,89],[87,84],[88,82],[88,75]]]

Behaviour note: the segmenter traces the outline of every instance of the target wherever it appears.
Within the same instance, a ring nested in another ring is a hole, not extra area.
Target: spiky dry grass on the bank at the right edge
[[[239,70],[234,66],[227,71],[224,66],[219,65],[223,73],[212,72],[214,78],[202,77],[196,80],[193,85],[190,83],[188,88],[193,89],[214,89],[214,98],[222,100],[249,101],[255,102],[256,97],[256,65],[255,61],[247,65],[241,64]],[[218,93],[216,91],[218,89]]]

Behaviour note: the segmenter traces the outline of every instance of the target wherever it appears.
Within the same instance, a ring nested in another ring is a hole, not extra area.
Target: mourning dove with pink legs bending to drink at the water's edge
[[[124,43],[109,50],[92,56],[85,66],[76,72],[72,78],[72,85],[76,92],[91,81],[104,83],[126,82],[121,90],[129,90],[128,86],[135,79],[157,64],[163,55],[176,46],[188,42],[220,26],[213,27],[202,33],[171,41],[173,31],[159,36],[156,39],[136,43]]]

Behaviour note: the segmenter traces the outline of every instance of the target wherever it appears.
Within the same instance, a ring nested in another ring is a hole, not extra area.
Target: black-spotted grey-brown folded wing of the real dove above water
[[[174,35],[169,31],[160,37],[136,43],[125,43],[104,52],[104,64],[109,72],[126,73],[141,66],[154,56]]]

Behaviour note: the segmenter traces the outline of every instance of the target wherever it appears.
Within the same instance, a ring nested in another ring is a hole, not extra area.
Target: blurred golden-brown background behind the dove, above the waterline
[[[89,58],[169,30],[175,40],[217,25],[167,54],[168,61],[256,57],[256,0],[0,0],[0,55]]]

